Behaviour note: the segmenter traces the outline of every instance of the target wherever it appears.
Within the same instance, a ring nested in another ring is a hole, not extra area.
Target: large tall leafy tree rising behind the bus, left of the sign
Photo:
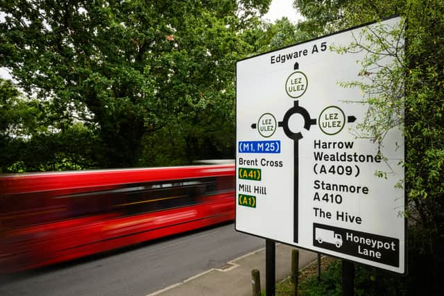
[[[0,66],[56,130],[89,130],[101,168],[232,157],[234,63],[269,3],[1,1]]]

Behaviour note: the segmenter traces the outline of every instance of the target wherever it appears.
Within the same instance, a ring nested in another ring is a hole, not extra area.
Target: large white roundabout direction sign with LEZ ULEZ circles
[[[368,105],[339,82],[366,79],[357,63],[366,52],[330,49],[399,21],[237,62],[237,231],[405,272],[402,132],[390,130],[382,146],[356,137]]]

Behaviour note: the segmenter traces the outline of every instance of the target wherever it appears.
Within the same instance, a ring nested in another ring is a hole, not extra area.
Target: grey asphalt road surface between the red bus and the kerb
[[[162,238],[15,275],[0,276],[0,295],[147,295],[264,247],[234,224]]]

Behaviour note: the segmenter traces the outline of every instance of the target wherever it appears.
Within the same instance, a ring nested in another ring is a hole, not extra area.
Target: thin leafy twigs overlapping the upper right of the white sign
[[[390,130],[404,128],[404,22],[395,27],[375,24],[363,28],[359,35],[355,35],[352,44],[332,46],[332,50],[366,53],[360,61],[359,76],[362,79],[340,82],[339,85],[361,89],[363,97],[359,103],[366,104],[368,110],[364,121],[357,125],[356,136],[381,146]],[[387,58],[391,58],[391,62],[386,62]]]

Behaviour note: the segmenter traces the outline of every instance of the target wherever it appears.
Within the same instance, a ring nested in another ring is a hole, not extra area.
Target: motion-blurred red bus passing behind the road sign
[[[0,273],[234,220],[234,164],[0,177]]]

